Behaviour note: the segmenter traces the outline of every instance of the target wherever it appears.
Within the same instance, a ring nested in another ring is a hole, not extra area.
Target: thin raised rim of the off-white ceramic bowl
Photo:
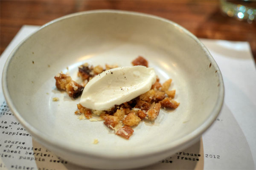
[[[91,149],[88,149],[87,147],[81,148],[81,147],[77,147],[77,146],[70,146],[69,144],[67,144],[63,141],[49,138],[49,136],[47,136],[44,133],[41,133],[35,127],[30,125],[28,122],[26,122],[26,120],[23,119],[22,116],[20,116],[19,112],[15,108],[15,105],[12,102],[12,99],[9,95],[9,90],[7,87],[7,71],[8,71],[9,63],[12,60],[12,57],[14,56],[16,51],[20,48],[20,46],[24,42],[26,42],[26,40],[28,40],[30,37],[32,37],[34,34],[36,34],[38,31],[40,31],[44,27],[47,27],[53,23],[57,23],[61,20],[67,19],[67,18],[76,17],[79,15],[85,15],[85,14],[93,14],[93,13],[116,13],[116,14],[136,15],[136,16],[140,16],[140,17],[150,17],[150,18],[153,18],[156,20],[161,20],[163,22],[166,22],[166,23],[169,23],[169,24],[175,26],[177,29],[182,30],[190,38],[195,40],[195,42],[197,42],[198,45],[201,46],[206,57],[208,57],[209,61],[212,63],[212,66],[217,71],[216,74],[219,79],[218,100],[215,103],[215,106],[214,106],[213,110],[211,111],[210,116],[205,120],[205,122],[202,125],[200,125],[199,127],[197,127],[192,133],[189,133],[186,136],[183,136],[182,138],[180,138],[172,143],[165,144],[164,146],[159,146],[157,148],[152,148],[151,150],[145,150],[145,152],[143,152],[143,153],[127,154],[124,152],[120,155],[112,155],[112,154],[107,154],[107,153],[103,153],[103,152],[99,152],[99,151],[96,152],[96,150],[92,151]],[[77,13],[73,13],[73,14],[68,14],[63,17],[59,17],[55,20],[52,20],[52,21],[44,24],[43,26],[41,26],[41,28],[39,28],[37,31],[35,31],[30,36],[26,37],[22,42],[20,42],[15,47],[15,49],[11,52],[9,57],[7,58],[6,63],[3,68],[2,86],[3,86],[3,94],[5,96],[6,102],[9,105],[9,108],[11,109],[12,113],[19,120],[19,122],[26,128],[26,130],[28,130],[29,133],[32,134],[32,137],[37,139],[38,142],[42,143],[43,145],[47,144],[51,147],[55,147],[58,150],[67,150],[68,152],[75,153],[76,155],[87,155],[90,157],[103,158],[103,159],[127,159],[127,158],[137,159],[137,158],[144,157],[144,156],[154,156],[157,154],[172,152],[175,150],[175,148],[182,148],[182,146],[184,146],[186,143],[189,144],[189,142],[193,141],[193,139],[199,138],[212,125],[212,123],[215,121],[218,114],[220,113],[223,102],[224,102],[224,83],[223,83],[221,71],[220,71],[217,63],[213,59],[212,55],[209,53],[209,51],[205,47],[205,45],[200,40],[198,40],[198,38],[195,37],[195,35],[193,35],[186,28],[183,28],[179,24],[174,23],[173,21],[167,20],[162,17],[157,17],[157,16],[154,16],[151,14],[144,14],[144,13],[134,12],[134,11],[122,11],[122,10],[112,10],[112,9],[90,10],[90,11],[82,11],[82,12],[77,12]]]

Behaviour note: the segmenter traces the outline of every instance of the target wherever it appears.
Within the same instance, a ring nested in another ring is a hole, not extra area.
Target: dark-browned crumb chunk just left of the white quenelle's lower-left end
[[[84,90],[84,87],[75,81],[71,81],[66,85],[67,94],[74,99],[78,98]]]

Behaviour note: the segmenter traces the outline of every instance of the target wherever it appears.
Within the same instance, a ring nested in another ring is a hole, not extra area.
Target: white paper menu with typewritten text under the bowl
[[[0,57],[3,65],[39,26],[23,26]],[[140,169],[255,169],[256,68],[247,42],[201,39],[224,79],[221,113],[201,140],[186,150]],[[0,84],[0,170],[86,169],[63,160],[32,139],[10,111]],[[90,169],[90,168],[89,168]]]

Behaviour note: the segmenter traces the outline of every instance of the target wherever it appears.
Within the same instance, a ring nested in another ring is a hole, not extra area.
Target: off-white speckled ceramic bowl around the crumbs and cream
[[[55,88],[60,71],[77,79],[78,66],[129,66],[145,57],[161,82],[173,79],[180,106],[140,123],[129,140],[103,122],[79,120],[72,100]],[[15,48],[3,71],[6,101],[21,124],[52,152],[93,168],[133,168],[159,161],[197,142],[221,110],[221,72],[207,48],[172,21],[128,11],[67,15],[42,26]],[[58,97],[58,102],[52,98]],[[98,144],[92,144],[98,139]]]

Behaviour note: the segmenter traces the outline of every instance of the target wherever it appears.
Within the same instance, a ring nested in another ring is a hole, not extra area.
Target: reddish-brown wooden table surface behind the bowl
[[[93,9],[138,11],[172,20],[199,38],[248,41],[256,61],[256,22],[221,13],[217,0],[1,0],[0,53],[23,25],[43,25],[58,17]]]

